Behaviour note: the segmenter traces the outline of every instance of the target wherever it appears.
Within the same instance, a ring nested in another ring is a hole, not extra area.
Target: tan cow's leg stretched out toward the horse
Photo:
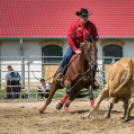
[[[109,97],[109,89],[105,87],[99,94],[97,100],[95,101],[95,105],[91,108],[88,114],[84,115],[82,119],[88,118],[95,110],[99,108],[99,105],[102,100]]]

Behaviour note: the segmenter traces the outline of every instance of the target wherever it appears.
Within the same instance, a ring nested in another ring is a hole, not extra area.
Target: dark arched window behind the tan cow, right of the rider
[[[115,57],[115,61],[118,61],[120,57],[122,57],[122,47],[110,44],[103,47],[103,56],[105,57]],[[112,62],[112,58],[104,59],[105,64],[110,64]]]

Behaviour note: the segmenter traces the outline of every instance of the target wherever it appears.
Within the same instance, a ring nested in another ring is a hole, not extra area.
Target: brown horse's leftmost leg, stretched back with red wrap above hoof
[[[53,82],[51,90],[50,90],[49,95],[48,95],[48,98],[46,100],[46,103],[39,110],[40,113],[43,113],[43,111],[46,109],[46,107],[50,104],[50,102],[53,98],[53,95],[57,89],[58,89],[57,83]]]

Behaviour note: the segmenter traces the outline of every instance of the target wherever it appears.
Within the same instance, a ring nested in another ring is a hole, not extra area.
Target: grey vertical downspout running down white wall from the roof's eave
[[[24,65],[24,48],[23,38],[20,38],[20,56],[21,56],[21,89],[24,89],[25,85],[25,65]]]

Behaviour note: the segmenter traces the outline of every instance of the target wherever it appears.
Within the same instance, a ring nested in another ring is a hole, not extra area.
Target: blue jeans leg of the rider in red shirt
[[[74,54],[73,50],[71,49],[71,47],[69,46],[65,55],[63,56],[62,62],[60,64],[59,67],[59,73],[62,71],[62,69],[64,68],[65,65],[67,65],[67,63],[69,62],[69,60],[71,59],[72,55]]]

